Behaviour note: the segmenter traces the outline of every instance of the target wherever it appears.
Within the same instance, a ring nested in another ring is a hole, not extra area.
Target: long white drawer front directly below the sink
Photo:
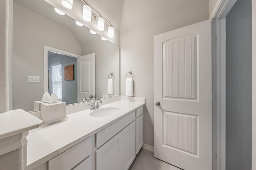
[[[132,121],[135,120],[136,112],[132,112],[126,117],[118,120],[112,125],[106,127],[102,131],[96,133],[96,148],[98,149],[104,143],[106,143],[109,139],[111,139],[114,135],[124,129],[127,125],[129,125]]]

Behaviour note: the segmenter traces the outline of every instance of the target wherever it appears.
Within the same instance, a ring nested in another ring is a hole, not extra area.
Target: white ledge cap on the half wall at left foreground
[[[22,109],[0,113],[0,139],[35,129],[41,123],[42,120]]]

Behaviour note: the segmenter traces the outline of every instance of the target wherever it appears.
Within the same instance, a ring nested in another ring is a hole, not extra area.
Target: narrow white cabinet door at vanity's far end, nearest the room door
[[[136,155],[143,146],[143,114],[136,119]]]

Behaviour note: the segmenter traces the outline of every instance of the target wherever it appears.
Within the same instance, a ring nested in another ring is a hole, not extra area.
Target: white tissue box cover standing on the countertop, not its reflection
[[[45,124],[66,118],[66,102],[41,104],[41,119]]]

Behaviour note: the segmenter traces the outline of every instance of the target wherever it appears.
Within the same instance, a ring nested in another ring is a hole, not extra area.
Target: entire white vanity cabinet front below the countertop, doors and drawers
[[[143,106],[33,170],[128,170],[142,146]]]

